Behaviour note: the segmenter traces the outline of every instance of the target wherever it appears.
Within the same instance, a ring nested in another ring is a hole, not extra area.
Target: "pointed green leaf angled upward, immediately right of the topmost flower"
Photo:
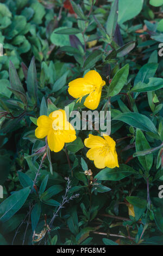
[[[118,70],[118,72],[115,74],[114,78],[110,83],[109,96],[115,96],[122,90],[123,86],[127,82],[128,73],[129,64],[126,64],[123,68]]]

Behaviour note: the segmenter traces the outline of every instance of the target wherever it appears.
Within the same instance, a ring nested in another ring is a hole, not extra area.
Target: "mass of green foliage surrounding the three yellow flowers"
[[[41,231],[41,245],[163,245],[163,1],[64,2],[0,3],[0,245]],[[82,123],[87,96],[67,89],[90,70],[105,81],[96,110],[111,111],[119,168],[86,157],[101,129],[57,153],[35,136],[37,118],[65,106]]]

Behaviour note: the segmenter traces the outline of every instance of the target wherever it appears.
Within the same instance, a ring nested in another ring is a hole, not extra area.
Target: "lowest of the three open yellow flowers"
[[[91,148],[86,154],[87,158],[93,160],[99,169],[106,166],[109,168],[119,167],[115,141],[107,134],[103,134],[103,137],[104,139],[89,134],[89,138],[84,140],[85,146]]]

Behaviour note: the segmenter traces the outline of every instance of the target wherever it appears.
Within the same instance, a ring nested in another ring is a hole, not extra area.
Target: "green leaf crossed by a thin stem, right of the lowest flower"
[[[136,152],[137,151],[143,151],[143,150],[148,150],[149,148],[151,148],[149,146],[148,141],[146,140],[145,135],[142,133],[141,130],[137,129],[136,130],[136,140],[135,140],[135,147],[136,147]],[[153,154],[148,154],[146,156],[139,156],[138,157],[139,162],[141,163],[141,165],[143,166],[143,168],[146,171],[149,171],[152,167],[153,164]]]

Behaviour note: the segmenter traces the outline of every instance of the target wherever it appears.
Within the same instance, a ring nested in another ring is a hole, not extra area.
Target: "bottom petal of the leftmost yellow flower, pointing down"
[[[53,129],[48,132],[48,145],[51,151],[59,152],[64,147],[65,143],[60,139],[60,136]]]

